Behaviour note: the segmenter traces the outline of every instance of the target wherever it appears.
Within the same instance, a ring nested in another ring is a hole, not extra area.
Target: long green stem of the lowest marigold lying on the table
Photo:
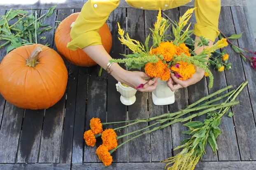
[[[236,104],[239,104],[239,102],[229,102],[229,103],[227,103],[227,104],[221,104],[221,106],[219,106],[219,107],[212,107],[211,109],[212,109],[212,111],[214,111],[214,110],[220,109],[220,108],[222,108],[222,107],[233,106],[233,105],[236,105]],[[207,111],[207,112],[208,112],[208,111]],[[151,130],[149,130],[149,131],[145,131],[145,132],[143,132],[143,133],[141,133],[141,134],[139,134],[139,135],[137,135],[137,136],[134,136],[133,138],[130,138],[130,139],[128,139],[127,141],[121,143],[120,145],[118,145],[118,146],[117,146],[116,148],[114,148],[113,150],[110,150],[109,153],[112,154],[117,148],[121,147],[122,145],[128,143],[129,141],[131,141],[131,140],[133,140],[133,139],[135,139],[135,138],[137,138],[137,137],[139,137],[139,136],[142,136],[142,135],[144,135],[144,134],[148,134],[148,133],[150,133],[150,132],[152,132],[152,131],[155,131],[155,130],[158,130],[158,129],[163,129],[163,128],[168,127],[168,126],[170,126],[170,125],[172,125],[172,124],[174,124],[174,123],[177,123],[177,122],[186,122],[186,121],[188,121],[188,120],[190,120],[190,119],[192,119],[192,118],[195,118],[195,117],[197,117],[197,116],[201,116],[201,115],[203,115],[203,114],[205,114],[205,113],[207,113],[207,112],[206,112],[206,111],[201,111],[201,112],[195,113],[195,114],[193,114],[193,115],[191,115],[191,116],[188,116],[188,117],[186,117],[186,118],[178,118],[178,119],[175,119],[175,120],[173,120],[173,121],[171,121],[171,122],[169,122],[169,123],[167,123],[167,124],[165,124],[165,125],[161,125],[161,126],[158,126],[158,127],[154,127],[153,129],[151,129]]]

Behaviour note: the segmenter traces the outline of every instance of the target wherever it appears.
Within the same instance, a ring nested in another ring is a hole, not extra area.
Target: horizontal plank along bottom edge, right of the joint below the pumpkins
[[[166,163],[112,163],[105,167],[103,163],[73,163],[72,170],[161,170]],[[198,162],[195,170],[254,170],[256,161]]]

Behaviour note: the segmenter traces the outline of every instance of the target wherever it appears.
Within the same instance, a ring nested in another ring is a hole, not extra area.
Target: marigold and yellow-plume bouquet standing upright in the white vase
[[[170,27],[168,20],[164,19],[159,10],[157,21],[154,25],[154,29],[150,29],[152,32],[145,40],[144,45],[139,41],[130,39],[128,33],[126,35],[123,29],[121,29],[118,23],[118,33],[121,36],[119,40],[122,44],[126,45],[133,54],[124,55],[125,59],[112,59],[110,62],[125,63],[128,69],[141,69],[144,68],[145,73],[153,79],[159,77],[162,81],[170,79],[170,73],[174,73],[175,76],[181,80],[191,78],[195,74],[195,67],[202,68],[205,71],[205,75],[209,77],[209,88],[213,85],[213,75],[209,70],[208,60],[213,52],[220,48],[224,48],[228,45],[226,39],[221,39],[214,45],[209,46],[209,40],[204,37],[200,37],[199,41],[191,40],[190,36],[193,34],[193,30],[189,30],[191,23],[186,27],[194,11],[189,9],[186,13],[179,18],[179,23],[174,22],[172,25],[172,33],[174,34],[174,40],[168,41],[165,35],[166,30]],[[183,29],[186,27],[186,30]],[[149,39],[153,40],[153,45],[149,48]],[[187,43],[191,41],[190,43]],[[198,43],[197,48],[205,47],[200,54],[195,54],[195,49],[189,49],[189,45],[194,47],[194,43]],[[208,47],[207,47],[208,46]],[[228,56],[223,56],[223,60],[226,61]],[[224,70],[222,67],[219,71]],[[139,86],[143,87],[143,84]]]

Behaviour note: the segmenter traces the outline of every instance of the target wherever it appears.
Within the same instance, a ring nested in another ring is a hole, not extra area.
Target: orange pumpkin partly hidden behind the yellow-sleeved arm
[[[70,63],[84,67],[95,66],[97,63],[95,63],[95,61],[93,61],[83,50],[77,49],[73,51],[67,48],[67,43],[72,40],[70,37],[70,26],[77,19],[78,15],[79,13],[71,14],[58,25],[55,33],[55,44],[58,52]],[[109,53],[112,47],[112,36],[107,23],[99,29],[99,34],[103,47]]]

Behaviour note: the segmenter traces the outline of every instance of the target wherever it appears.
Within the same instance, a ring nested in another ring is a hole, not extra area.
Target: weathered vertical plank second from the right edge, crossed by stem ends
[[[225,30],[227,28],[226,25],[229,25],[229,27],[233,26],[231,12],[228,7],[221,9],[221,14],[219,17],[219,29]],[[234,55],[235,53],[231,48],[227,48],[227,53],[230,55],[230,58],[232,59],[237,58],[237,56]],[[232,61],[232,59],[229,62],[231,63],[235,62],[234,60]],[[241,62],[241,61],[238,61],[238,62]],[[230,74],[235,74],[233,72],[233,69],[239,70],[241,69],[241,67],[240,68],[233,67],[232,70],[227,70],[226,71],[227,79],[229,79]],[[243,70],[240,70],[240,72],[242,73]],[[214,75],[214,86],[212,89],[209,89],[209,93],[217,91],[218,89],[221,89],[227,85],[224,72],[218,73],[217,70],[212,70],[212,74]],[[220,102],[224,102],[225,100],[226,99],[223,99]],[[219,148],[218,150],[219,161],[239,161],[240,155],[239,155],[239,149],[238,149],[237,139],[235,135],[233,119],[228,118],[227,116],[223,116],[221,120],[220,129],[221,129],[221,134],[217,138],[217,143]]]

